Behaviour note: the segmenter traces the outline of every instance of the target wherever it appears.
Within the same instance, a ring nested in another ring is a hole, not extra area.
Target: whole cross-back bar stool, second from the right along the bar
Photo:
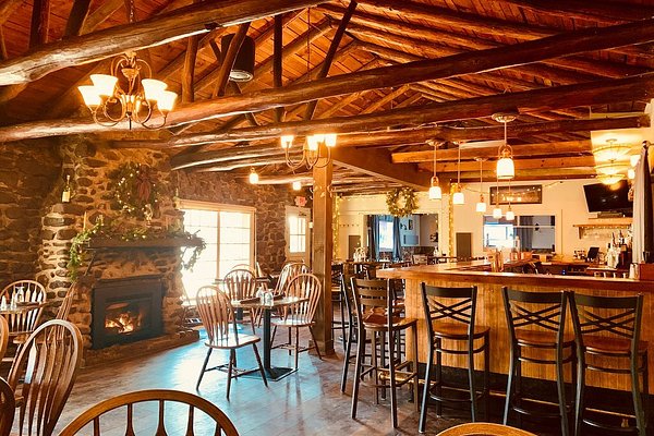
[[[509,421],[509,412],[522,415],[560,419],[561,434],[570,434],[568,413],[572,407],[566,401],[566,363],[572,365],[572,386],[574,386],[574,336],[565,332],[567,292],[524,292],[504,287],[501,289],[507,325],[510,338],[510,366],[505,401],[504,424]],[[531,351],[530,351],[531,350]],[[546,355],[543,355],[545,352]],[[548,358],[549,354],[554,356]],[[537,353],[534,355],[534,353]],[[558,411],[547,412],[542,408],[523,405],[529,400],[522,389],[522,362],[555,365]],[[514,389],[514,379],[518,386]]]

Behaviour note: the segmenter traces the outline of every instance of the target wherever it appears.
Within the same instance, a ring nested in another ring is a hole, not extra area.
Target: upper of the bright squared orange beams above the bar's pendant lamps
[[[461,147],[461,159],[470,160],[475,159],[477,157],[485,159],[495,159],[497,158],[497,148],[498,147],[467,147],[465,145],[463,145]],[[591,141],[581,140],[543,144],[518,144],[512,145],[511,148],[513,150],[514,157],[581,154],[588,155],[591,153]],[[438,162],[456,161],[458,159],[458,155],[459,150],[457,148],[439,149],[437,154]],[[392,154],[392,161],[396,164],[433,162],[433,149]],[[447,171],[447,169],[444,168],[439,171]]]

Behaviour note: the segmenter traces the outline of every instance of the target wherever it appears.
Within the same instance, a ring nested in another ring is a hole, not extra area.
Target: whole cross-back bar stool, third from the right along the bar
[[[423,307],[425,310],[425,319],[427,322],[427,332],[429,341],[429,358],[425,375],[425,386],[420,412],[420,433],[425,433],[427,401],[428,399],[437,401],[437,414],[440,416],[443,403],[469,402],[472,421],[477,421],[477,401],[485,400],[484,414],[488,417],[489,403],[489,384],[488,373],[491,368],[489,332],[486,326],[475,325],[476,313],[476,287],[470,288],[444,288],[432,287],[424,282],[422,286]],[[446,348],[443,341],[453,341],[463,343],[464,348]],[[475,348],[475,340],[481,344]],[[481,392],[477,392],[474,375],[474,356],[484,353],[484,379]],[[434,354],[436,354],[436,374],[437,378],[434,386],[432,382],[432,367],[434,365]],[[455,396],[445,396],[443,389],[451,389],[453,386],[445,386],[443,380],[443,354],[465,355],[468,358],[468,398],[457,398]]]

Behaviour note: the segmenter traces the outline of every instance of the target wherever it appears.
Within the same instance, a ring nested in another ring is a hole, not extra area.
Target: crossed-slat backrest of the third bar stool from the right
[[[472,343],[476,312],[476,287],[445,288],[421,283],[425,319],[431,322],[462,323],[468,326],[468,337]],[[444,301],[445,300],[445,301]],[[429,338],[434,337],[434,326],[427,322]]]

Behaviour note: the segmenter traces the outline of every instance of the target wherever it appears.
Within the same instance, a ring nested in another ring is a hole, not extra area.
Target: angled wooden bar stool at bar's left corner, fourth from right
[[[356,417],[359,386],[363,376],[374,377],[375,398],[379,402],[379,390],[390,390],[390,409],[393,428],[398,426],[396,388],[413,383],[412,398],[417,409],[417,347],[413,348],[413,359],[402,361],[393,344],[400,331],[411,328],[413,343],[417,344],[416,320],[405,318],[395,307],[391,298],[392,290],[387,280],[366,280],[352,278],[352,292],[356,311],[356,364],[354,366],[354,384],[352,388],[352,419]],[[371,364],[364,370],[365,344],[367,334],[371,334]],[[377,362],[377,339],[380,340],[380,362]],[[388,351],[386,351],[388,350]],[[388,359],[386,353],[388,352]],[[388,364],[386,364],[386,361]],[[389,384],[386,384],[388,378]]]

